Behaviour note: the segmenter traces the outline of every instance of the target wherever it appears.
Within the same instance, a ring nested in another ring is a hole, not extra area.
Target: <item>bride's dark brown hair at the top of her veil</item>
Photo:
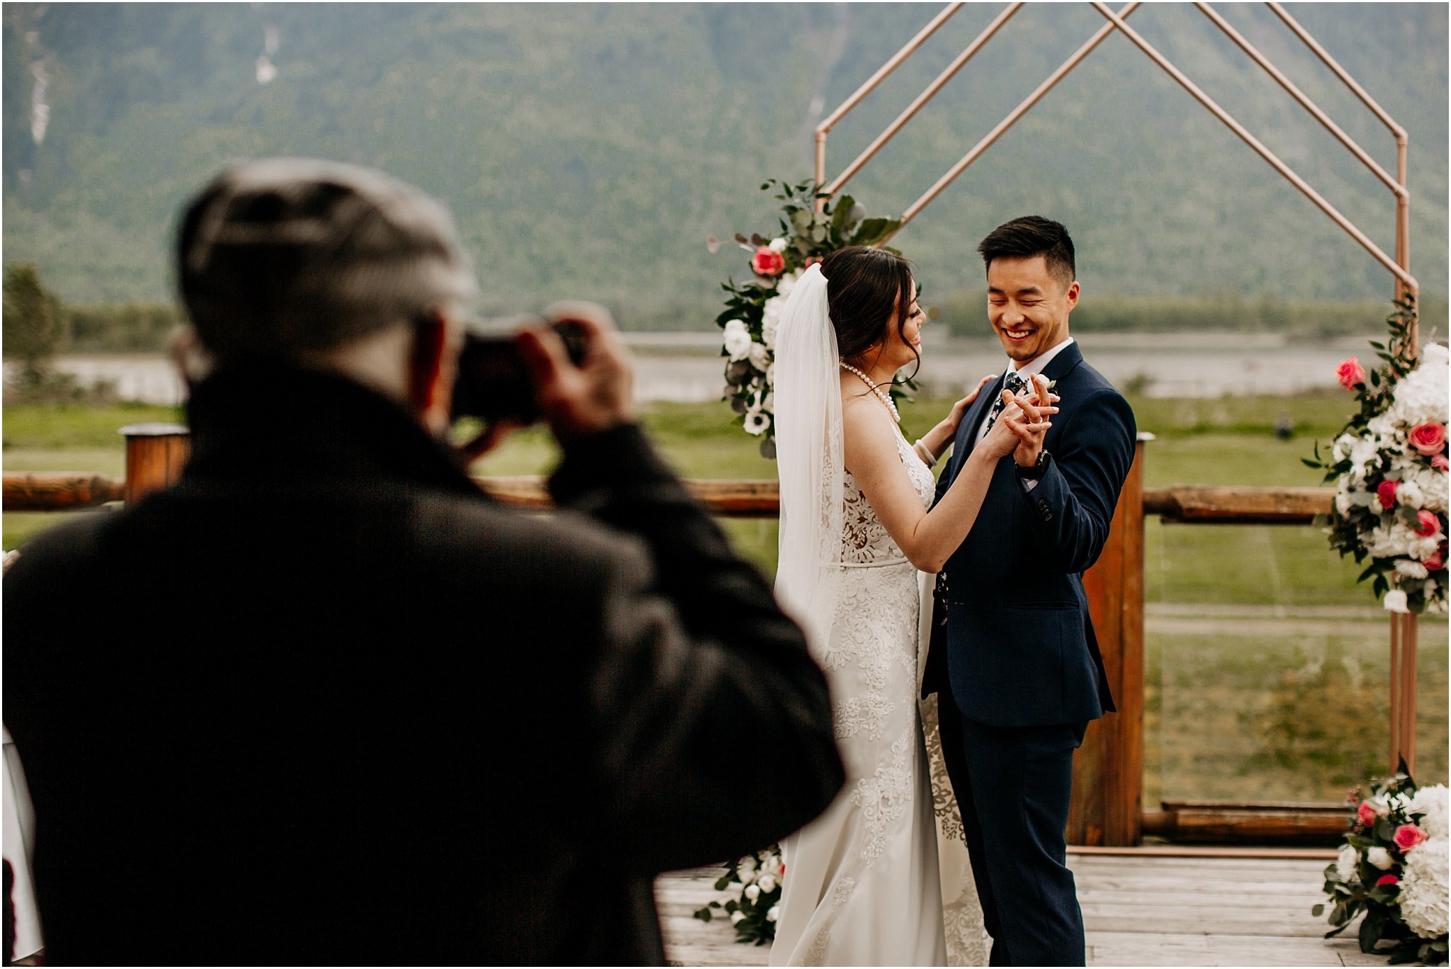
[[[904,335],[911,302],[917,296],[911,263],[887,250],[850,245],[821,260],[821,276],[826,277],[827,312],[842,360],[856,360],[872,347],[878,347],[881,354],[894,319],[897,335]],[[921,354],[916,348],[913,354],[920,368]]]

